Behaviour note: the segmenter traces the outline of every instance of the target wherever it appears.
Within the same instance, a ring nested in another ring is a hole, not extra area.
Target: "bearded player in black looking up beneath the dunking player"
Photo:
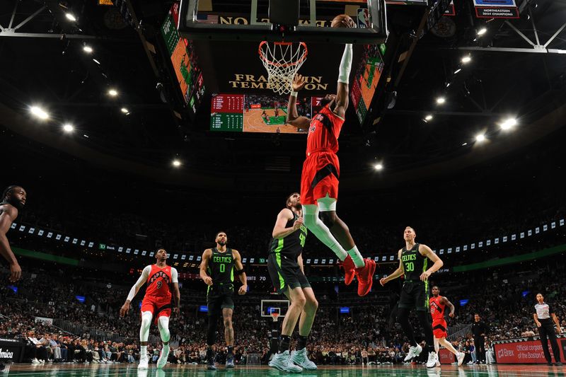
[[[269,365],[281,371],[298,373],[303,369],[317,369],[316,364],[308,359],[306,341],[313,327],[318,301],[304,274],[302,253],[307,231],[303,225],[299,193],[289,195],[286,204],[287,208],[279,211],[273,227],[267,269],[277,293],[287,296],[291,306],[283,320],[278,352]],[[291,335],[297,321],[299,341],[296,350],[289,355]]]

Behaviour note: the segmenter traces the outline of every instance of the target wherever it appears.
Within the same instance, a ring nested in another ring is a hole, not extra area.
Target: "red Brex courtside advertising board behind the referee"
[[[566,338],[559,337],[556,341],[560,348],[560,357],[564,360]],[[540,340],[504,341],[495,343],[494,347],[497,364],[546,364],[547,362]],[[548,349],[550,354],[553,354],[550,342],[548,342]]]

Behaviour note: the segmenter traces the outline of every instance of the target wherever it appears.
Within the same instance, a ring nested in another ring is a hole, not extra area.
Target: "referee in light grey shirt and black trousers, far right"
[[[556,335],[554,333],[553,321],[556,324],[556,331],[560,334],[560,322],[553,311],[553,307],[544,302],[543,294],[536,295],[535,313],[533,318],[535,319],[536,327],[538,327],[538,335],[541,335],[541,343],[543,344],[543,351],[548,365],[553,364],[553,360],[550,358],[550,352],[548,352],[548,340],[550,340],[550,345],[553,347],[554,360],[556,365],[562,365],[560,362],[560,349],[558,349],[558,342],[556,342]],[[550,320],[550,317],[553,319]]]

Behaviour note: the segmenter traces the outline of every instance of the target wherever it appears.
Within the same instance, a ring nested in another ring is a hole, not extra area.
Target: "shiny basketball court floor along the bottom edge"
[[[207,371],[205,366],[169,366],[158,371],[151,367],[138,371],[137,364],[131,365],[42,365],[13,364],[6,366],[1,376],[57,376],[57,377],[181,377],[181,376],[291,376],[267,366],[237,366],[236,369]],[[293,376],[354,377],[354,376],[443,376],[443,377],[512,377],[512,376],[566,376],[563,366],[546,365],[474,365],[442,366],[427,369],[424,366],[321,366],[318,371],[293,374]]]

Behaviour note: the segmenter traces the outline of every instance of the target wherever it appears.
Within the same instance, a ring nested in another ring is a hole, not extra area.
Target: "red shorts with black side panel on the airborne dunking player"
[[[338,199],[340,161],[336,153],[314,152],[303,163],[301,204],[316,204],[320,198]]]

